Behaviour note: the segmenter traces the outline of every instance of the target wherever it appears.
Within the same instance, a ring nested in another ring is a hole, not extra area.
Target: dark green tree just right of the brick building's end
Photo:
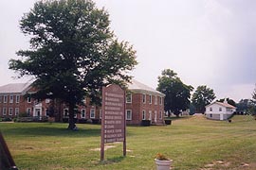
[[[164,110],[168,111],[169,116],[171,111],[179,116],[180,110],[190,108],[192,89],[192,86],[184,84],[171,69],[163,70],[161,76],[158,76],[156,90],[165,94]]]

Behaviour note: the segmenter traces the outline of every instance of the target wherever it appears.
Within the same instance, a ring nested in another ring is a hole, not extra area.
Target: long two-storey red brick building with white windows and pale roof
[[[16,117],[19,113],[41,119],[52,116],[57,122],[68,121],[68,106],[57,100],[46,99],[38,101],[26,96],[36,90],[29,83],[8,84],[0,87],[0,117]],[[12,101],[19,96],[19,102]],[[125,116],[127,125],[139,126],[143,120],[152,125],[164,125],[164,94],[153,88],[132,80],[128,84]],[[101,107],[90,105],[90,99],[84,98],[83,106],[76,109],[78,122],[101,122]],[[15,110],[15,113],[13,113]]]

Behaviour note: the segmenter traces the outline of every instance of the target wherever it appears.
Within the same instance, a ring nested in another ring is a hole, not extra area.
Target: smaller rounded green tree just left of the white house
[[[206,85],[198,86],[192,94],[192,105],[195,107],[196,112],[204,113],[206,106],[210,104],[215,98],[215,93]]]

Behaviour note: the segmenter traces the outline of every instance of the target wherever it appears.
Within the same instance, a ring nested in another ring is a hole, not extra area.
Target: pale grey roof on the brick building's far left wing
[[[24,93],[31,83],[11,83],[0,86],[0,93]]]

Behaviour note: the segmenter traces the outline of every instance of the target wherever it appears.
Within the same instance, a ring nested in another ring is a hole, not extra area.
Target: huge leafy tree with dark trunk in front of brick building
[[[124,85],[137,64],[133,47],[119,42],[109,25],[108,12],[90,0],[42,0],[20,21],[30,48],[18,51],[22,58],[10,59],[9,68],[35,78],[33,97],[66,103],[70,129],[84,96],[100,103],[101,87]]]

